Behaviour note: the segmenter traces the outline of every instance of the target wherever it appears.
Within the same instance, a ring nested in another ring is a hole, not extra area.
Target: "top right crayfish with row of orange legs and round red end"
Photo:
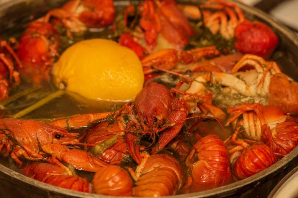
[[[182,7],[184,13],[194,19],[203,19],[212,34],[221,34],[227,40],[235,39],[234,46],[242,53],[269,58],[279,40],[274,31],[259,21],[249,21],[241,8],[225,0],[208,0],[200,5]]]

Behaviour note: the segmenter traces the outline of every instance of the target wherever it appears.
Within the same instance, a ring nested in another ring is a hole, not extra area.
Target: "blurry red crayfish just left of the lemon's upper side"
[[[17,55],[24,65],[19,71],[32,78],[35,84],[49,80],[50,69],[54,64],[60,44],[60,36],[48,22],[34,21],[29,24],[19,40]]]

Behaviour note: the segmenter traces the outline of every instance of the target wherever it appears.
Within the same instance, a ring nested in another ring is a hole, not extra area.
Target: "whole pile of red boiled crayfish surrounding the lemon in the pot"
[[[298,145],[298,83],[270,61],[279,40],[269,26],[224,0],[143,0],[120,14],[121,23],[112,0],[70,0],[29,23],[19,40],[0,40],[0,100],[20,75],[49,82],[61,34],[72,40],[90,28],[117,33],[146,77],[113,112],[47,123],[1,118],[0,154],[22,174],[85,193],[171,196],[248,178]],[[205,34],[228,45],[199,45]]]

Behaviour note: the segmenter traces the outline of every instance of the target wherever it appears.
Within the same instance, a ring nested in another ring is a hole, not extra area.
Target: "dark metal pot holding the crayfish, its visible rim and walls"
[[[24,19],[40,8],[53,8],[61,6],[65,0],[4,0],[0,3],[0,35],[10,36],[11,28],[16,24],[24,23]],[[199,0],[180,0],[183,3],[198,4]],[[128,1],[116,1],[118,4]],[[237,3],[239,4],[239,3]],[[271,18],[264,12],[255,8],[239,4],[248,17],[260,20],[271,26],[280,39],[278,50],[283,51],[288,58],[285,59],[283,72],[298,80],[298,36]],[[26,22],[26,20],[25,20]],[[20,29],[20,28],[18,28]],[[283,159],[266,170],[239,182],[199,193],[171,196],[171,198],[203,198],[203,197],[230,197],[249,198],[267,197],[274,186],[296,164],[298,164],[298,148],[295,148]],[[98,198],[94,194],[79,193],[58,188],[25,177],[13,170],[0,165],[0,197],[5,198]],[[107,196],[101,196],[106,197]],[[170,198],[170,197],[169,197]]]

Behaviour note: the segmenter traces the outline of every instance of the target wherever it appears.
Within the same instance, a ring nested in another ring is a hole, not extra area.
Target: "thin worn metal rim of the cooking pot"
[[[2,3],[2,4],[0,3],[1,9],[3,9],[3,10],[8,9],[10,6],[21,3],[23,1],[24,0],[13,0],[13,1],[8,1],[5,3]],[[183,0],[180,0],[180,1],[183,1]],[[185,1],[191,2],[193,4],[198,3],[197,0],[185,0]],[[273,18],[272,16],[266,14],[265,12],[263,12],[257,8],[249,7],[247,5],[244,5],[240,2],[235,2],[233,0],[227,0],[227,1],[231,1],[231,2],[239,5],[244,12],[250,13],[250,14],[257,16],[258,18],[266,21],[271,27],[273,27],[273,29],[280,31],[285,37],[287,37],[288,39],[291,39],[293,44],[298,48],[298,35],[295,34],[294,32],[292,32],[286,26],[282,25],[281,22],[278,21],[277,19]],[[116,2],[115,5],[117,5],[117,4],[119,5],[122,3],[127,4],[127,2],[124,0],[119,0],[119,1],[117,0],[115,2]],[[0,17],[1,17],[1,14],[0,14]],[[249,184],[257,182],[258,180],[265,178],[266,176],[276,172],[278,169],[286,166],[287,163],[289,163],[291,160],[293,160],[297,155],[298,155],[298,147],[294,148],[289,154],[287,154],[285,157],[283,157],[281,160],[279,160],[272,166],[266,168],[265,170],[255,174],[251,177],[248,177],[246,179],[234,182],[229,185],[225,185],[223,187],[215,188],[212,190],[191,193],[191,194],[166,196],[164,198],[204,198],[204,197],[210,197],[210,196],[224,194],[227,192],[233,192],[241,187],[248,186]],[[39,182],[37,180],[26,177],[26,176],[24,176],[18,172],[15,172],[12,169],[9,169],[1,164],[0,164],[0,171],[16,180],[20,180],[20,181],[25,182],[29,185],[33,185],[35,187],[38,187],[38,188],[41,188],[44,190],[48,190],[48,191],[49,190],[54,191],[55,193],[64,194],[67,196],[73,196],[74,198],[99,198],[99,197],[116,198],[115,196],[103,196],[103,195],[96,195],[96,194],[90,194],[90,193],[82,193],[82,192],[77,192],[77,191],[68,190],[68,189],[52,186],[49,184],[45,184],[43,182]],[[128,198],[132,198],[132,197],[128,197]]]

